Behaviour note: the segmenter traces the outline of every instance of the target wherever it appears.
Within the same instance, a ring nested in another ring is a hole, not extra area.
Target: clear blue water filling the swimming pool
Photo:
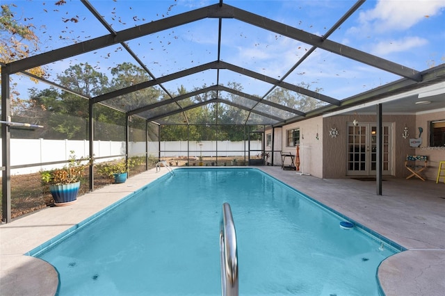
[[[175,170],[31,254],[59,272],[59,295],[220,295],[224,202],[240,295],[379,295],[396,249],[252,168]]]

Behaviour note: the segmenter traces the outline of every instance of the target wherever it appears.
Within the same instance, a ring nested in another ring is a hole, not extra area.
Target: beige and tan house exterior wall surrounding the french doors
[[[335,115],[330,117],[314,117],[302,122],[283,126],[282,131],[276,129],[281,138],[281,147],[284,152],[296,154],[295,147],[286,146],[286,132],[289,129],[300,128],[302,147],[300,149],[300,172],[312,174],[318,178],[347,178],[347,124],[358,120],[362,123],[375,123],[376,115]],[[445,148],[429,147],[429,122],[432,120],[445,120],[445,110],[432,113],[418,113],[416,115],[382,115],[382,122],[392,127],[391,176],[405,178],[410,172],[405,168],[405,157],[410,155],[428,156],[428,169],[425,172],[427,179],[435,180],[439,161],[445,161]],[[408,138],[403,138],[403,129],[407,126]],[[337,138],[330,136],[330,130],[337,128]],[[419,127],[422,127],[422,145],[415,149],[410,147],[410,138],[419,137]],[[318,140],[316,134],[318,133]],[[277,140],[277,138],[275,139]],[[275,150],[279,150],[279,145]],[[277,163],[278,162],[278,163]],[[280,157],[275,157],[275,165],[280,165]]]

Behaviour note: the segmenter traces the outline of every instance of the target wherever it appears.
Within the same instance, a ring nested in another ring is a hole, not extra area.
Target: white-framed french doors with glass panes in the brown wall
[[[391,124],[382,124],[382,174],[391,174]],[[375,176],[377,169],[377,126],[348,123],[348,175]]]

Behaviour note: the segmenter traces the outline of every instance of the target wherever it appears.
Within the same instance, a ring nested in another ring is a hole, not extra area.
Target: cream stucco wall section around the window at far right
[[[434,120],[445,120],[445,110],[432,113],[421,113],[416,115],[416,137],[419,136],[419,127],[423,129],[421,135],[422,144],[419,148],[411,149],[412,154],[428,156],[428,168],[424,171],[427,179],[436,180],[439,161],[445,161],[445,147],[430,147],[430,122]],[[414,131],[413,129],[410,129]],[[441,179],[441,181],[443,181]]]

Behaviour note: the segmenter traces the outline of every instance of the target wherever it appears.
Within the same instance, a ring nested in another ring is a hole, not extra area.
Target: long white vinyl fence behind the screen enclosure
[[[201,145],[200,145],[201,144]],[[161,157],[178,156],[244,156],[248,150],[248,142],[230,141],[167,141],[161,142]],[[44,139],[11,139],[10,140],[10,165],[30,165],[37,163],[50,163],[55,161],[67,161],[70,151],[74,151],[76,158],[89,156],[88,140],[44,140]],[[125,142],[95,141],[94,157],[101,158],[125,154]],[[261,149],[261,141],[251,141],[251,150]],[[187,155],[187,151],[190,154]],[[1,151],[1,147],[0,147]],[[149,155],[157,157],[159,154],[159,142],[148,143]],[[145,142],[129,142],[129,155],[138,156],[145,154]],[[256,152],[254,152],[256,155]],[[99,159],[95,162],[110,161],[110,158]],[[0,165],[1,163],[0,157]],[[49,170],[63,165],[38,165],[33,167],[22,167],[11,170],[11,174],[31,174],[40,170]]]

